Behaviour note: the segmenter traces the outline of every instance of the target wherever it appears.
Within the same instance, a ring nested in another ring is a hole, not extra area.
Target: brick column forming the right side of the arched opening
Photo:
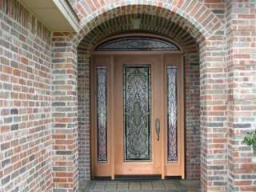
[[[226,64],[223,30],[200,44],[202,191],[226,191]]]

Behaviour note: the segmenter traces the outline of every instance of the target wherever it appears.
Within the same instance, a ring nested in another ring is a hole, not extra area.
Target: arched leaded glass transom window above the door
[[[103,42],[96,50],[99,51],[126,51],[126,50],[179,50],[171,42],[159,38],[130,37],[116,38]]]

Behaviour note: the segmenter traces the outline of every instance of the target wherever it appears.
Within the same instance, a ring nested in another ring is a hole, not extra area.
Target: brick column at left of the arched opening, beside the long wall
[[[54,191],[78,191],[77,48],[69,34],[52,39]]]

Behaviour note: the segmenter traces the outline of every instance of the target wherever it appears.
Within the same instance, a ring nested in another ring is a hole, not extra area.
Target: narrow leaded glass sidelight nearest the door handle
[[[167,161],[178,161],[177,142],[177,67],[167,66]]]

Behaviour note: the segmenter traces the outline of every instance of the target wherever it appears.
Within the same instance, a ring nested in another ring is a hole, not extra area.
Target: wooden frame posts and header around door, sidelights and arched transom
[[[136,34],[138,36],[146,36],[148,37],[149,35],[148,34]],[[110,39],[114,39],[114,38],[120,38],[120,37],[130,37],[131,35],[130,34],[125,34],[125,35],[117,35],[117,36],[114,36],[114,37],[111,37],[111,38],[107,38],[105,39],[104,41],[102,42],[106,42],[106,40],[110,40]],[[132,35],[134,36],[134,34]],[[163,38],[162,36],[158,36],[158,35],[150,35],[150,37],[154,37],[154,38]],[[168,41],[170,42],[173,42],[171,41],[169,38],[165,38],[167,39]],[[99,42],[97,45],[99,45],[100,43],[102,42]],[[176,46],[177,43],[175,43]],[[96,46],[95,46],[96,47]],[[178,46],[179,47],[179,46]],[[180,47],[179,47],[180,48]],[[179,62],[179,65],[180,65],[180,70],[181,70],[181,73],[182,73],[182,78],[180,79],[180,81],[177,83],[177,86],[180,87],[180,92],[181,94],[178,95],[178,101],[181,101],[179,107],[181,109],[178,110],[178,115],[181,115],[181,119],[178,120],[180,122],[180,126],[182,126],[181,128],[181,140],[182,141],[181,143],[181,148],[182,148],[182,157],[181,157],[181,164],[182,164],[182,179],[185,178],[185,154],[186,154],[186,147],[185,147],[185,97],[184,97],[184,86],[185,86],[185,80],[184,80],[184,56],[183,56],[183,51],[182,49],[180,48],[180,50],[142,50],[142,51],[93,51],[91,53],[92,57],[90,58],[90,170],[91,170],[91,178],[94,178],[95,177],[95,164],[96,164],[96,157],[95,157],[95,151],[96,151],[96,146],[95,146],[95,142],[96,142],[96,133],[95,133],[95,130],[92,129],[92,127],[95,127],[95,109],[94,109],[94,104],[95,104],[95,98],[94,98],[94,75],[95,75],[95,71],[94,71],[94,56],[103,56],[103,55],[110,55],[110,72],[112,72],[111,76],[110,76],[110,81],[113,82],[114,81],[114,55],[147,55],[147,54],[158,54],[158,55],[161,55],[161,62],[162,62],[162,65],[165,67],[164,69],[164,77],[163,78],[166,78],[166,65],[164,65],[164,57],[166,54],[168,55],[180,55],[180,62]],[[114,88],[112,86],[112,88],[110,87],[110,90],[108,90],[109,93],[113,94],[114,95]],[[165,95],[166,95],[166,92],[165,92]],[[108,106],[110,107],[110,113],[114,113],[114,98],[110,98],[112,100],[111,102],[111,106]],[[166,106],[166,105],[165,105]],[[165,109],[166,111],[166,109]],[[109,113],[108,113],[109,114]],[[114,116],[114,115],[112,115]],[[114,118],[114,117],[111,117],[111,118]],[[166,117],[165,117],[166,119]],[[114,125],[112,125],[111,123],[114,123],[114,120],[111,120],[111,122],[109,123],[108,122],[108,126],[110,127],[113,127]],[[165,128],[165,130],[167,130]],[[108,130],[108,133],[110,133],[110,135],[107,136],[108,138],[108,141],[110,142],[110,178],[111,179],[114,179],[115,177],[115,174],[114,174],[114,129],[110,129]],[[167,134],[166,134],[166,131],[161,131],[162,133],[162,179],[166,178],[166,164],[167,164],[167,161],[166,161],[166,137],[167,137]],[[111,137],[112,135],[112,137]],[[94,151],[94,152],[93,152]]]

